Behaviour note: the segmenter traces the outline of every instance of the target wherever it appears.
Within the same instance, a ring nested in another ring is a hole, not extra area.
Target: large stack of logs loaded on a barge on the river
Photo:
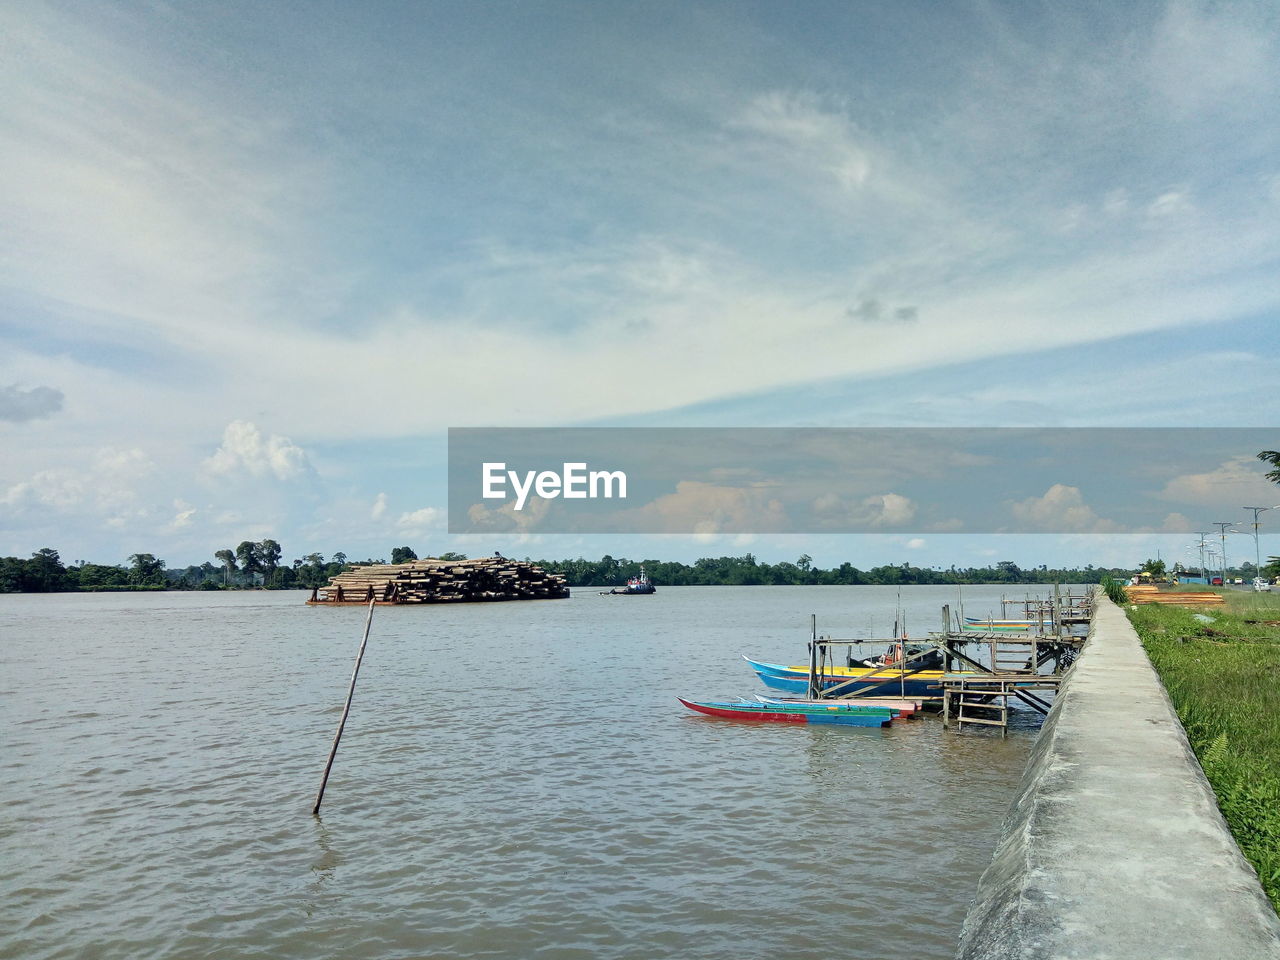
[[[308,603],[475,603],[568,596],[564,577],[504,557],[371,563],[311,591]]]

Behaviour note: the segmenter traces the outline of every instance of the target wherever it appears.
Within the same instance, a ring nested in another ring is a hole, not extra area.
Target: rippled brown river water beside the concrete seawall
[[[896,595],[379,608],[321,819],[362,609],[0,596],[0,956],[950,956],[1034,723],[675,700],[763,692],[740,653],[803,660],[810,612],[883,634]],[[916,631],[954,600],[902,590]]]

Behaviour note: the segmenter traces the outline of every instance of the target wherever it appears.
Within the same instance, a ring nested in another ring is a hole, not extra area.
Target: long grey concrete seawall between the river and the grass
[[[1106,596],[956,956],[1280,960],[1280,919],[1138,635]]]

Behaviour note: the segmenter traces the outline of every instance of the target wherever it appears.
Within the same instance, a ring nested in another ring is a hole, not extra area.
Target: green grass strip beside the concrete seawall
[[[1129,620],[1280,911],[1280,593],[1226,591],[1224,607],[1201,611],[1143,605]]]

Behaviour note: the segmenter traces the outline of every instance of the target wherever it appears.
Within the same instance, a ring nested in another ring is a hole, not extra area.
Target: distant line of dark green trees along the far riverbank
[[[329,559],[319,553],[298,557],[292,563],[280,559],[275,540],[246,540],[236,549],[214,553],[214,561],[183,568],[168,568],[150,553],[134,553],[125,563],[63,563],[58,550],[45,548],[29,559],[0,557],[0,593],[61,593],[76,590],[302,590],[324,586],[343,570],[387,559],[352,561],[344,553]],[[397,547],[392,563],[417,559],[410,547]],[[466,559],[461,553],[443,553],[438,559]],[[659,586],[710,585],[854,585],[854,584],[1097,584],[1103,577],[1128,577],[1132,570],[1087,566],[1082,568],[1019,567],[1001,561],[989,567],[916,567],[886,563],[859,568],[841,563],[829,570],[813,566],[806,556],[796,561],[764,563],[753,554],[704,557],[692,563],[678,561],[635,561],[604,556],[598,561],[525,559],[548,572],[562,575],[570,586],[621,586],[630,577],[645,573]],[[1245,564],[1252,567],[1252,564]]]

